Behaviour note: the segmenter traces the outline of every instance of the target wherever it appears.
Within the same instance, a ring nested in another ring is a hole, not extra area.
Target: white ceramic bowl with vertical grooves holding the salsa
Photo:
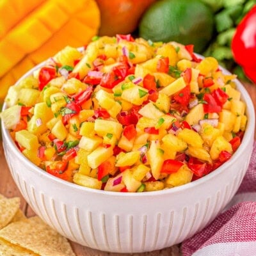
[[[248,116],[243,141],[227,163],[201,179],[147,193],[84,188],[31,163],[19,152],[2,123],[4,152],[13,179],[36,214],[60,234],[84,246],[134,253],[180,243],[204,228],[228,204],[248,168],[255,113],[243,85],[236,83]]]

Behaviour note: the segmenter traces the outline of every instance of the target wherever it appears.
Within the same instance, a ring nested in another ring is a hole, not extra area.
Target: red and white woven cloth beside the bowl
[[[182,243],[183,256],[256,256],[256,142],[250,165],[230,204]]]

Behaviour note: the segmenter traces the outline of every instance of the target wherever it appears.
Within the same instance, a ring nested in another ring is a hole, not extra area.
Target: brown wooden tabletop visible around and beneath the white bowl
[[[248,84],[244,83],[244,87],[246,90],[250,93],[250,96],[252,97],[253,104],[256,110],[256,85],[255,84]],[[255,136],[256,138],[256,136]],[[13,197],[13,196],[20,196],[21,198],[21,210],[26,214],[26,216],[30,217],[35,215],[33,210],[29,207],[29,205],[26,203],[24,198],[19,192],[19,189],[13,182],[12,176],[10,174],[10,171],[8,169],[8,166],[6,164],[5,158],[4,158],[4,152],[3,152],[3,146],[2,143],[0,145],[0,194],[6,196],[6,197]],[[100,252],[97,250],[92,250],[90,248],[80,246],[79,244],[72,243],[72,248],[74,249],[74,252],[77,256],[125,256],[124,253],[106,253],[106,252]],[[127,254],[128,255],[128,254]],[[129,254],[131,255],[131,254]],[[159,250],[155,252],[148,252],[148,253],[136,253],[133,255],[150,255],[150,256],[178,256],[181,255],[179,252],[178,246],[172,246],[171,248],[166,248],[164,250]]]

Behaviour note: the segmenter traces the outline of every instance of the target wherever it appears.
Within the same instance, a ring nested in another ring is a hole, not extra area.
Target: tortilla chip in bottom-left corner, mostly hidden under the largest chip
[[[29,252],[20,246],[14,245],[5,241],[4,239],[0,239],[0,256],[39,256],[36,253]]]

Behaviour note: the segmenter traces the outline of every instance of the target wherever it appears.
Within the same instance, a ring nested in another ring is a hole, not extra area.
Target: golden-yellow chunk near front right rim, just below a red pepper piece
[[[177,172],[168,176],[166,183],[174,187],[181,186],[191,182],[192,177],[193,172],[188,168],[186,164],[183,164]]]

